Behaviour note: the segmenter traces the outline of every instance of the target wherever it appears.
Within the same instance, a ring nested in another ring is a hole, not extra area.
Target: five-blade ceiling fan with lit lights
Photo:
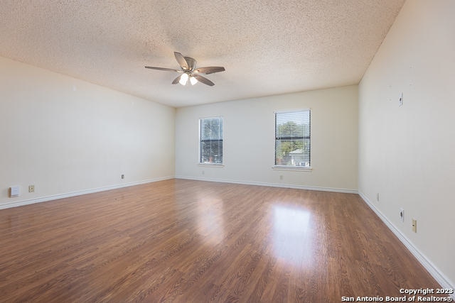
[[[194,85],[198,82],[202,82],[203,84],[210,85],[213,87],[215,83],[211,82],[209,79],[201,76],[200,74],[213,74],[214,72],[224,72],[225,68],[221,66],[210,66],[210,67],[198,67],[196,68],[196,60],[192,57],[183,57],[181,53],[173,52],[173,55],[176,57],[178,65],[180,65],[181,70],[174,70],[173,68],[166,68],[166,67],[154,67],[154,66],[146,66],[145,68],[149,68],[151,70],[168,70],[169,72],[180,72],[181,75],[173,79],[172,84],[180,83],[185,85],[188,82],[188,79],[191,82],[191,85]]]

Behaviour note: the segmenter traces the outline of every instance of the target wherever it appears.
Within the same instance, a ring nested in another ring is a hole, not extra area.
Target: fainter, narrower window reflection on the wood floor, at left
[[[198,199],[198,233],[208,244],[218,244],[225,237],[223,212],[222,199],[216,197]]]

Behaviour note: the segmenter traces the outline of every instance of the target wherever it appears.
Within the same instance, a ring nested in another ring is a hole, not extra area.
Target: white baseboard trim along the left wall
[[[21,200],[21,201],[15,201],[11,202],[8,204],[1,204],[0,209],[9,209],[11,207],[17,207],[17,206],[23,206],[23,205],[28,205],[28,204],[35,204],[35,203],[40,203],[40,202],[47,202],[47,201],[52,201],[56,199],[63,199],[63,198],[69,198],[69,197],[75,197],[75,196],[80,196],[81,194],[92,194],[94,192],[104,192],[106,190],[110,189],[118,189],[122,187],[129,187],[129,186],[134,186],[134,185],[139,185],[139,184],[146,184],[146,183],[151,183],[151,182],[158,182],[158,181],[163,181],[163,180],[169,180],[173,179],[173,176],[168,176],[168,177],[158,177],[154,179],[148,179],[148,180],[141,180],[141,181],[136,181],[136,182],[127,182],[127,183],[120,183],[120,184],[113,184],[109,185],[106,187],[97,187],[93,189],[83,189],[77,192],[67,192],[65,194],[54,194],[51,196],[45,196],[45,197],[39,197],[36,199],[28,199],[28,200]]]

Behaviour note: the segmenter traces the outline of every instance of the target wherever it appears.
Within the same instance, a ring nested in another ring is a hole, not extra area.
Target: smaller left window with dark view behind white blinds
[[[199,119],[199,163],[223,164],[223,118]]]

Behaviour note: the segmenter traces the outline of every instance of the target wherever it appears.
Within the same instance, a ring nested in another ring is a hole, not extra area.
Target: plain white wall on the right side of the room
[[[359,85],[359,192],[451,287],[454,16],[455,1],[407,1]]]

